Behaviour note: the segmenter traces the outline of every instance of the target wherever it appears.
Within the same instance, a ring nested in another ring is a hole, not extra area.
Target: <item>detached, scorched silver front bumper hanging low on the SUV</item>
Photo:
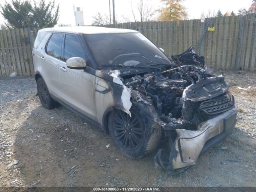
[[[202,152],[220,143],[232,132],[236,125],[236,114],[237,109],[232,108],[219,116],[202,122],[196,131],[176,129],[178,136],[172,145],[168,166],[164,162],[166,154],[163,150],[158,151],[155,157],[156,162],[166,166],[169,174],[178,173],[194,165]]]

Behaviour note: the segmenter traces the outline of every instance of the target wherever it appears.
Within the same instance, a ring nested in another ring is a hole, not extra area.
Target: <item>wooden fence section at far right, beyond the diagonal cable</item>
[[[212,18],[209,27],[215,30],[206,32],[202,46],[209,66],[256,70],[256,14]]]

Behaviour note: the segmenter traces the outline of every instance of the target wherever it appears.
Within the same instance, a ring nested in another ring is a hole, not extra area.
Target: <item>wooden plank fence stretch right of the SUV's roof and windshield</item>
[[[208,26],[207,26],[208,24]],[[217,69],[256,70],[256,14],[168,22],[134,22],[116,28],[140,31],[168,56],[191,45],[205,56],[206,66]],[[206,32],[205,32],[206,29]],[[202,38],[204,37],[204,38]]]

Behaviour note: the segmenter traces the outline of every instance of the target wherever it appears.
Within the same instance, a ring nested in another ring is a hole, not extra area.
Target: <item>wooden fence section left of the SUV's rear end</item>
[[[38,29],[32,28],[34,42]],[[34,74],[28,29],[0,30],[0,76],[16,72],[19,76]]]

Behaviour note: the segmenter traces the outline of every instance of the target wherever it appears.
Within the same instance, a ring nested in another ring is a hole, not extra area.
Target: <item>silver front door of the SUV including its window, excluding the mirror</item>
[[[90,66],[86,70],[70,69],[66,66],[66,60],[72,57],[81,57],[89,63],[88,56],[78,35],[65,34],[62,46],[62,62],[60,62],[59,86],[62,89],[61,99],[71,108],[95,120],[94,103],[94,69]]]

